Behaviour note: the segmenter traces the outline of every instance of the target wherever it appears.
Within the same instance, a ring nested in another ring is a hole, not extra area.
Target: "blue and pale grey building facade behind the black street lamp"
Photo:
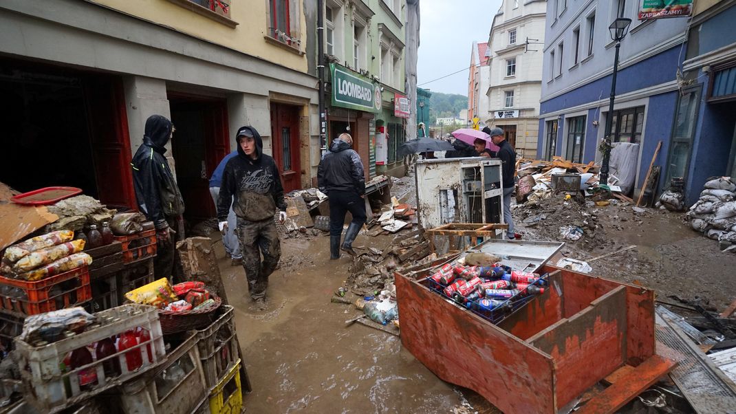
[[[564,5],[564,7],[563,7]],[[638,151],[633,190],[638,194],[659,141],[654,165],[665,188],[670,135],[679,101],[678,71],[687,45],[687,18],[637,21],[635,1],[548,1],[537,157],[601,162],[598,146],[609,117],[615,43],[609,24],[631,18],[621,41],[612,142]]]

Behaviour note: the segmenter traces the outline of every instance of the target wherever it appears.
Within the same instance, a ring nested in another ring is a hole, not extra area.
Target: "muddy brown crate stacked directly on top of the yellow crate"
[[[236,336],[233,307],[224,305],[221,315],[206,329],[197,332],[197,348],[209,388],[215,387],[230,368],[238,363],[240,349]]]

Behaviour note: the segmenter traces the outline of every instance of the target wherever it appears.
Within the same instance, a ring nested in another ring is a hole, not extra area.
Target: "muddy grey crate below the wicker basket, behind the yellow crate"
[[[167,337],[169,342],[169,337]],[[210,393],[202,376],[197,335],[191,335],[166,355],[152,374],[125,382],[119,388],[124,413],[189,414]]]

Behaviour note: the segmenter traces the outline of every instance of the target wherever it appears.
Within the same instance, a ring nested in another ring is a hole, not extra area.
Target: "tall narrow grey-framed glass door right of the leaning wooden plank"
[[[672,143],[668,155],[667,176],[665,185],[677,177],[683,178],[690,168],[690,151],[693,146],[695,125],[698,121],[698,99],[700,88],[685,90],[679,96],[675,113],[675,124],[672,128]]]

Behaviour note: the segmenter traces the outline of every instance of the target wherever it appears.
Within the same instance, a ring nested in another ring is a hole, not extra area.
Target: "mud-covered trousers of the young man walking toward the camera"
[[[273,218],[247,221],[238,217],[238,239],[250,298],[253,300],[265,298],[269,276],[276,269],[281,257],[281,243],[276,223]],[[261,254],[263,254],[262,261]]]

